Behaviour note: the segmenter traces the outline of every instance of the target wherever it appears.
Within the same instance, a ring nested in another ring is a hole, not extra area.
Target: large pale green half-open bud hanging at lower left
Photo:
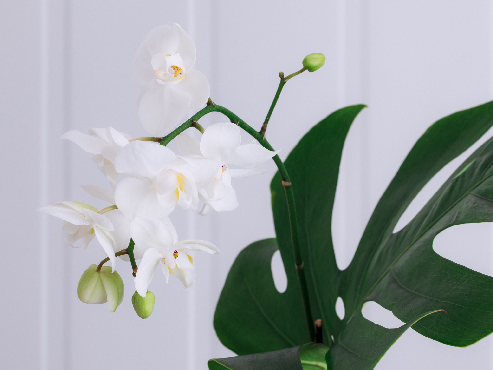
[[[108,302],[109,310],[115,312],[123,300],[123,281],[118,272],[111,272],[110,266],[92,264],[84,271],[77,285],[77,296],[84,303],[100,304]]]

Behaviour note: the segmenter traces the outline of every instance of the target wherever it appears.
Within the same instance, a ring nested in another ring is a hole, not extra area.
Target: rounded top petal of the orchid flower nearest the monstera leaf
[[[215,123],[204,131],[200,151],[206,158],[225,164],[226,152],[241,144],[240,129],[234,123]]]

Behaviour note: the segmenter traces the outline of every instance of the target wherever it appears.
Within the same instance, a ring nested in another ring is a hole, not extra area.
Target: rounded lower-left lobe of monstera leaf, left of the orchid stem
[[[260,240],[236,258],[217,302],[214,329],[239,355],[274,351],[310,341],[294,269],[286,270],[287,289],[279,293],[271,271],[276,239]],[[294,262],[293,262],[294,263]]]

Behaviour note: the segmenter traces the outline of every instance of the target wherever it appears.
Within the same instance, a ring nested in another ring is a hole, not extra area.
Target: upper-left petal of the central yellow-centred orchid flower
[[[114,164],[118,173],[153,179],[175,160],[176,155],[170,148],[155,142],[137,140],[120,150]]]

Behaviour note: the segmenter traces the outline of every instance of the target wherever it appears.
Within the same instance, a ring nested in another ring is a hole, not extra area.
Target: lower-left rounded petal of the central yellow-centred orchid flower
[[[116,186],[115,202],[118,209],[130,220],[140,216],[162,219],[174,209],[160,204],[151,182],[131,177],[123,179]]]

